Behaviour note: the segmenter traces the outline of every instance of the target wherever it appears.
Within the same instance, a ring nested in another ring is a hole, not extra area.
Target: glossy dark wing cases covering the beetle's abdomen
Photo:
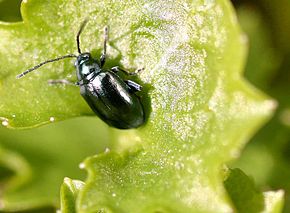
[[[92,110],[108,125],[119,129],[136,128],[144,123],[144,110],[139,97],[116,74],[97,74],[81,86],[81,95]]]

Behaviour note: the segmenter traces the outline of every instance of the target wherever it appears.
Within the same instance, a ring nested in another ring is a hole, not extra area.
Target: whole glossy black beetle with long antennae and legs
[[[131,129],[145,122],[144,108],[136,92],[142,86],[132,80],[125,80],[117,73],[123,72],[128,76],[136,75],[143,69],[128,72],[118,66],[104,69],[108,41],[108,28],[105,28],[103,52],[99,60],[94,59],[89,52],[82,53],[80,35],[87,24],[86,19],[80,26],[76,36],[78,55],[68,54],[55,59],[44,61],[16,76],[17,79],[38,69],[44,64],[66,58],[76,58],[75,68],[78,81],[69,82],[65,79],[50,80],[50,84],[75,84],[80,87],[80,94],[86,100],[95,114],[109,126],[118,129]]]

